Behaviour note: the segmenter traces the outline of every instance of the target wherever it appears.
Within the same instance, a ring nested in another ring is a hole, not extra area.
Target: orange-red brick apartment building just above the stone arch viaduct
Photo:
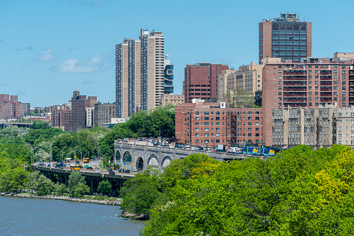
[[[262,109],[231,109],[226,102],[184,103],[176,106],[178,143],[231,145],[262,143]]]

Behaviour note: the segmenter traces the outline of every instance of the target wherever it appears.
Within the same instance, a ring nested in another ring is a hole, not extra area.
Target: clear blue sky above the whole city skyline
[[[163,31],[175,66],[233,68],[258,60],[258,24],[300,12],[312,22],[312,56],[354,52],[354,1],[0,1],[0,93],[31,107],[68,102],[72,91],[115,101],[115,45],[140,29]]]

